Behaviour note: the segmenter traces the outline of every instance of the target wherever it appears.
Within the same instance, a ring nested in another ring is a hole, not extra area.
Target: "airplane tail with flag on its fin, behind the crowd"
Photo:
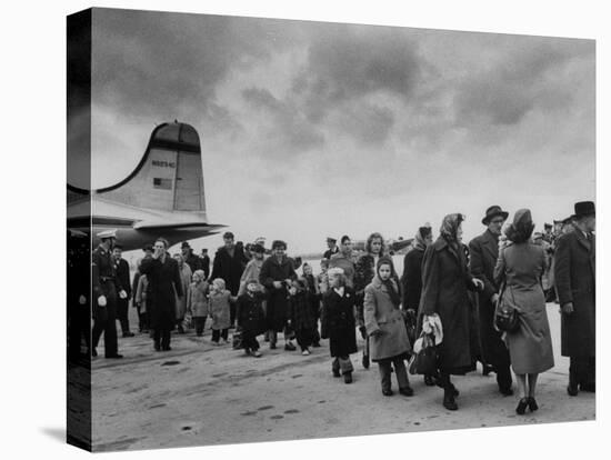
[[[187,123],[157,126],[136,169],[116,184],[90,191],[68,183],[69,232],[91,232],[92,248],[109,229],[129,251],[159,237],[173,246],[223,227],[208,222],[199,136]]]

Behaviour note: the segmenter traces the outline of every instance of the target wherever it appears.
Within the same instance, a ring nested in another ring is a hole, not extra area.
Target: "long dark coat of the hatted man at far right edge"
[[[557,241],[554,278],[560,304],[573,302],[574,311],[562,314],[563,357],[594,357],[597,343],[595,237],[588,241],[581,230]]]

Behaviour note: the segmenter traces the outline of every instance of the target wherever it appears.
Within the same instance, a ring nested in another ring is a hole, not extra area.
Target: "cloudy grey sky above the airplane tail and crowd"
[[[593,41],[94,10],[93,43],[93,186],[178,119],[243,241],[437,234],[459,211],[469,239],[490,204],[542,227],[594,199]]]

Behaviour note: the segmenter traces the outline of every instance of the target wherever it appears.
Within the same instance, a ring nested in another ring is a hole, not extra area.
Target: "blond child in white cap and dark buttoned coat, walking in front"
[[[350,353],[357,352],[354,290],[345,286],[343,269],[332,268],[328,271],[329,290],[322,298],[322,332],[329,339],[329,349],[333,363],[333,377],[341,377],[345,383],[352,383],[352,362]],[[340,373],[341,371],[341,373]]]

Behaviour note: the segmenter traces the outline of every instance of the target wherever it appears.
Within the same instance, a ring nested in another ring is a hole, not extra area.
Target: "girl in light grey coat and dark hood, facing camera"
[[[390,373],[394,367],[399,392],[412,396],[404,359],[411,352],[403,314],[399,309],[401,294],[392,259],[378,260],[377,274],[364,290],[364,324],[370,339],[371,360],[378,363],[382,394],[392,396]]]

